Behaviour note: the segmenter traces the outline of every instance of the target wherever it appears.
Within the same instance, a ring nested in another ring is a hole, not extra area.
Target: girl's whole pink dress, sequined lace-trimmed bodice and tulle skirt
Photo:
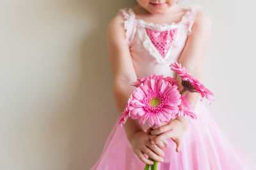
[[[202,10],[200,4],[191,4],[180,22],[163,25],[136,19],[131,8],[120,10],[125,18],[126,40],[138,77],[152,73],[174,76],[169,65],[179,60],[198,10]],[[176,145],[172,139],[164,140],[168,146],[164,150],[164,162],[159,163],[158,169],[256,169],[252,158],[228,141],[200,100],[196,104],[196,111],[198,119],[189,124],[179,153],[175,151]],[[144,129],[148,128],[146,124]],[[91,170],[139,170],[144,167],[145,163],[132,152],[124,127],[119,127],[116,119],[102,154]]]

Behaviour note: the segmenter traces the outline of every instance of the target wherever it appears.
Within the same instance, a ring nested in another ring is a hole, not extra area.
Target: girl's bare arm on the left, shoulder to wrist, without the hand
[[[109,59],[114,76],[113,95],[117,111],[121,113],[124,111],[132,92],[136,89],[130,84],[137,79],[129,45],[125,39],[124,18],[122,15],[116,15],[109,22],[107,36]],[[128,140],[131,139],[133,134],[143,130],[137,120],[131,120],[130,118],[125,122],[124,129]]]

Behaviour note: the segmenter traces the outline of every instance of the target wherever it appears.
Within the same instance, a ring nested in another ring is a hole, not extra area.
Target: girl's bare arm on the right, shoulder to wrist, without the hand
[[[204,11],[198,11],[195,23],[191,28],[191,34],[188,36],[188,40],[179,59],[181,66],[185,67],[188,73],[192,74],[201,83],[204,82],[204,57],[211,38],[211,29],[212,22],[209,15],[204,13]],[[178,74],[177,80],[181,84]],[[186,94],[186,97],[195,106],[200,94],[189,92]],[[180,120],[185,128],[188,127],[188,118],[177,117],[177,120]]]

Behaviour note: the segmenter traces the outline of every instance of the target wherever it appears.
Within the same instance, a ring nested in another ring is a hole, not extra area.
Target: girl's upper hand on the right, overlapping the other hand
[[[151,144],[157,144],[164,139],[171,138],[177,145],[176,152],[180,152],[182,137],[184,132],[188,129],[188,123],[182,122],[179,119],[173,119],[168,124],[161,127],[153,127],[154,130],[150,132],[151,135],[156,136],[150,141]]]

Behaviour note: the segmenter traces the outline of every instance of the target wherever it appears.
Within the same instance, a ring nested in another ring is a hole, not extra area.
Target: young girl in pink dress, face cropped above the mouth
[[[203,62],[211,36],[211,18],[200,4],[188,9],[177,0],[137,0],[134,8],[121,9],[108,25],[108,50],[113,69],[113,94],[121,113],[141,76],[163,74],[179,62],[195,78],[204,81]],[[161,127],[129,118],[124,127],[116,121],[94,169],[143,169],[159,162],[158,169],[190,170],[256,169],[253,160],[237,149],[214,123],[200,95],[189,93],[197,119],[177,117]]]

